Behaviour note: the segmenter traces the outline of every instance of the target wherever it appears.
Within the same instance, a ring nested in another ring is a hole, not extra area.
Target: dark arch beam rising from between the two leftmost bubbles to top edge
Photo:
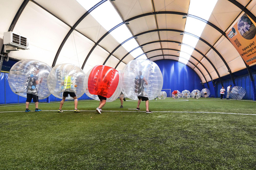
[[[52,67],[55,66],[58,56],[60,54],[61,49],[63,48],[65,42],[68,40],[69,36],[71,35],[71,33],[75,30],[75,28],[78,26],[78,24],[87,16],[90,14],[90,12],[92,12],[94,9],[96,9],[98,6],[100,6],[102,3],[106,2],[107,0],[102,0],[99,3],[97,3],[96,5],[94,5],[91,9],[89,9],[82,17],[80,17],[77,22],[74,24],[74,26],[69,30],[68,34],[66,35],[66,37],[64,38],[64,40],[61,42],[60,47],[55,55],[55,58],[53,60],[52,63]],[[94,45],[96,46],[96,45]],[[94,47],[95,48],[95,47]],[[83,68],[82,68],[83,69]]]

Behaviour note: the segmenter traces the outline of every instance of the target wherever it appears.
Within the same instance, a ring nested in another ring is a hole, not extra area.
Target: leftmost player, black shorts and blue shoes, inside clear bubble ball
[[[38,96],[35,95],[35,94],[37,94],[38,84],[42,82],[42,80],[39,80],[38,73],[39,73],[39,68],[35,68],[34,73],[30,75],[30,80],[29,80],[28,88],[27,88],[27,100],[26,100],[25,112],[31,111],[28,109],[28,107],[29,107],[29,103],[32,101],[32,98],[33,98],[33,101],[35,102],[35,107],[36,107],[35,112],[42,111],[42,110],[38,109],[39,100],[38,100]],[[34,93],[34,94],[32,94],[32,93]]]

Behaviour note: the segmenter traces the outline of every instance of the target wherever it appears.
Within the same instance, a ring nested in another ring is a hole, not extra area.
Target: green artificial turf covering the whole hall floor
[[[1,105],[0,169],[256,169],[253,101],[167,98],[149,101],[152,114],[145,102],[98,105]]]

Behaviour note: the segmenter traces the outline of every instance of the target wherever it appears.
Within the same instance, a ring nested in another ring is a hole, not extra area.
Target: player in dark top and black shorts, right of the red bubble
[[[145,79],[145,77],[142,75],[142,72],[139,71],[139,75],[135,77],[135,87],[134,87],[134,92],[137,94],[139,99],[136,110],[140,110],[141,101],[145,101],[146,113],[153,113],[149,110],[149,99],[143,96],[145,93],[145,85],[148,85],[148,82]]]

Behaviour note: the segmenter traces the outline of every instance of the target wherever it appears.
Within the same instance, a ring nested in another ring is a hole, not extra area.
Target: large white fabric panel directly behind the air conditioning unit
[[[30,1],[14,29],[15,33],[30,39],[30,49],[14,51],[9,56],[17,59],[37,59],[52,65],[69,30],[66,24]]]

